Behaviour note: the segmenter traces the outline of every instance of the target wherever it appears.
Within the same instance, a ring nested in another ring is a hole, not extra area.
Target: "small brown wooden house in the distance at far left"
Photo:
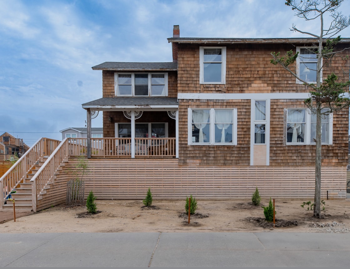
[[[22,138],[15,138],[7,132],[0,136],[0,161],[9,160],[11,156],[21,157],[28,149]]]

